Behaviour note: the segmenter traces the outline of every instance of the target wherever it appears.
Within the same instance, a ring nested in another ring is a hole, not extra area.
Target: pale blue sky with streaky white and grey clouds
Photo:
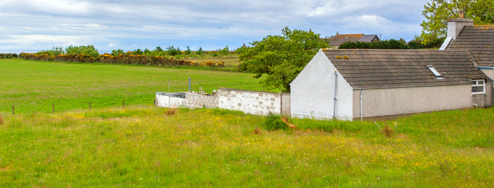
[[[0,50],[240,47],[281,29],[419,35],[428,0],[0,0]]]

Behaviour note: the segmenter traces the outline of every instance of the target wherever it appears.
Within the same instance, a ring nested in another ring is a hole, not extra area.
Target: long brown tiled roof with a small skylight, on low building
[[[453,85],[489,79],[469,51],[325,49],[324,54],[354,88]],[[433,66],[444,79],[427,68]]]

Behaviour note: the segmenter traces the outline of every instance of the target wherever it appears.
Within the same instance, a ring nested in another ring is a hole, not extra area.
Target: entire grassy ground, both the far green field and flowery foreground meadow
[[[266,131],[263,116],[152,105],[168,77],[172,91],[189,76],[196,89],[262,89],[248,74],[18,60],[0,70],[1,188],[494,184],[493,108],[378,121],[389,137],[371,121],[291,119],[296,129]]]

